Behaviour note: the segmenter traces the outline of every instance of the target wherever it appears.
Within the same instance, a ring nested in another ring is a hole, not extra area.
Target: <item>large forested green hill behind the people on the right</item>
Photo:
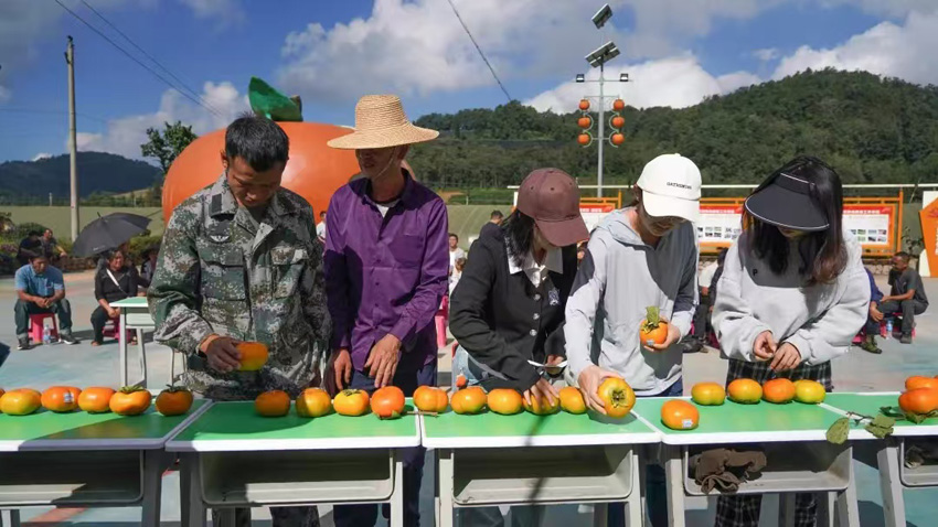
[[[626,142],[605,152],[610,184],[635,182],[646,162],[668,152],[694,160],[704,183],[758,183],[802,153],[831,163],[845,183],[938,181],[936,86],[809,71],[690,108],[627,107],[622,115]],[[539,166],[595,183],[596,146],[576,143],[578,117],[516,101],[427,115],[417,125],[440,130],[440,139],[416,146],[409,162],[438,187],[503,189]]]

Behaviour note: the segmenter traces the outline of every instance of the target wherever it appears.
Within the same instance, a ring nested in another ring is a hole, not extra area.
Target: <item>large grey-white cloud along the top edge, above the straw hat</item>
[[[584,56],[617,42],[625,57],[665,57],[707,34],[715,18],[748,19],[786,0],[614,0],[614,18],[597,31],[578,1],[459,0],[462,20],[499,76],[556,78],[585,71]],[[632,19],[628,32],[617,28]],[[426,95],[492,86],[447,1],[375,0],[366,19],[324,28],[309,23],[287,35],[278,84],[306,100],[348,101],[364,93]]]

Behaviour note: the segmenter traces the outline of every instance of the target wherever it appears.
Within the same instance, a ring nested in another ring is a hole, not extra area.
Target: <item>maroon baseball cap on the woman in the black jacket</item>
[[[589,237],[579,215],[579,187],[559,169],[537,169],[518,191],[518,209],[534,218],[537,228],[556,247]]]

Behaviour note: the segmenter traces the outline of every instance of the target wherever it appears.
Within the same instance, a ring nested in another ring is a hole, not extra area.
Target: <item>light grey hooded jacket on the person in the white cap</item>
[[[697,303],[697,243],[693,224],[683,223],[646,245],[628,218],[610,214],[593,233],[567,299],[569,374],[576,379],[590,364],[611,369],[638,395],[661,394],[681,378],[681,346],[646,351],[639,341],[646,308],[657,305],[684,336]]]

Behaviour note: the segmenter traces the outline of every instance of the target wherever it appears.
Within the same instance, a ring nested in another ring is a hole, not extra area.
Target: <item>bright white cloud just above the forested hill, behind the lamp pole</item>
[[[606,75],[607,78],[615,80],[619,78],[621,72],[628,72],[631,82],[608,83],[606,93],[621,94],[627,105],[637,108],[654,106],[684,108],[696,105],[706,96],[725,94],[760,82],[759,77],[747,72],[714,77],[704,71],[693,55],[610,67],[607,68]],[[590,78],[598,78],[598,75],[587,75],[587,79]],[[598,94],[598,86],[595,83],[569,82],[544,92],[524,104],[542,111],[553,110],[563,114],[573,111],[584,95],[596,94]]]

